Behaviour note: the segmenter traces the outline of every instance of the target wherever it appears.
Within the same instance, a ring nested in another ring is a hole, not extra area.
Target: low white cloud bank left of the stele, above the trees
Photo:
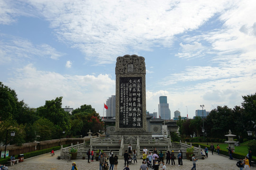
[[[39,107],[46,100],[63,96],[64,106],[78,108],[91,104],[96,110],[102,110],[102,103],[115,92],[115,80],[109,75],[61,75],[37,70],[32,64],[18,68],[14,77],[4,84],[15,89],[19,100],[24,99],[30,107]]]

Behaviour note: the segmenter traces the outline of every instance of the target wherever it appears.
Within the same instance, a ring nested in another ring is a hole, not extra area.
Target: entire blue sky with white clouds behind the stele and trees
[[[31,108],[115,94],[116,58],[145,57],[146,109],[241,105],[256,92],[255,0],[0,0],[0,81]]]

